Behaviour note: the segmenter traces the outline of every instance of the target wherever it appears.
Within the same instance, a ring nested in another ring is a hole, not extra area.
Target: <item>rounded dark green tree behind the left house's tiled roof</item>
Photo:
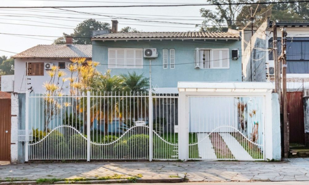
[[[77,25],[73,34],[63,33],[62,37],[54,40],[54,44],[64,44],[66,42],[65,37],[67,35],[73,37],[74,44],[91,44],[90,31],[107,29],[110,29],[109,23],[102,23],[100,21],[96,21],[95,19],[87,19]]]

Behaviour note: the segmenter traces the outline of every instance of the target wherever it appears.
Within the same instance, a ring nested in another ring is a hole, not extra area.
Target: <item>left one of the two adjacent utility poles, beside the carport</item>
[[[275,67],[275,92],[278,93],[281,112],[281,66],[278,61],[277,25],[275,21],[273,21],[273,60]]]

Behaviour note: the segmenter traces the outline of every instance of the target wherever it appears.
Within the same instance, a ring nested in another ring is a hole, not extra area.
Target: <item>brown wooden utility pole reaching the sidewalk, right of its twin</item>
[[[290,125],[287,115],[287,97],[286,97],[286,28],[281,29],[281,62],[282,62],[282,111],[283,111],[283,138],[284,138],[284,157],[289,156],[290,151]]]

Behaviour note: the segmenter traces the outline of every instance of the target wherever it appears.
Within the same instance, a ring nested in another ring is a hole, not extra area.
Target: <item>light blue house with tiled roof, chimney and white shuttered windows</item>
[[[92,32],[92,59],[102,64],[101,72],[149,77],[151,60],[151,81],[159,93],[177,93],[179,81],[242,81],[239,31],[118,33],[117,23],[112,21],[111,33]],[[145,57],[147,48],[155,48],[157,57]]]

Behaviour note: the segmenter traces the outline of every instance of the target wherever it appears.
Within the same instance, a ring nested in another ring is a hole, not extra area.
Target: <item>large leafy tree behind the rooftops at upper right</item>
[[[283,2],[286,0],[279,0]],[[205,18],[201,31],[222,31],[225,28],[242,28],[251,23],[258,27],[270,16],[270,19],[286,22],[302,22],[309,19],[309,3],[276,3],[276,4],[250,4],[250,5],[217,5],[214,11],[202,8],[201,16]],[[230,0],[207,0],[209,3],[230,3]],[[271,2],[271,0],[240,0],[244,2]],[[252,10],[251,10],[252,7]],[[199,25],[197,25],[199,26]]]

